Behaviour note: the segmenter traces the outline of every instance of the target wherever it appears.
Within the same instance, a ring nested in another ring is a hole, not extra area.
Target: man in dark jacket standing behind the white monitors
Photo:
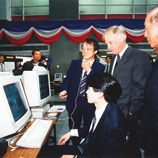
[[[21,69],[22,73],[23,71],[32,71],[34,66],[42,66],[45,68],[45,65],[39,62],[39,60],[41,59],[41,52],[39,50],[32,51],[32,58],[33,59],[31,61],[27,61],[23,64],[23,67]]]

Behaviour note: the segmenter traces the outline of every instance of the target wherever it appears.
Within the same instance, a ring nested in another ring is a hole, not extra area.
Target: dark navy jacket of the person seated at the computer
[[[87,129],[86,129],[87,130]],[[85,128],[79,136],[86,137]],[[108,103],[82,155],[78,157],[121,157],[125,140],[125,117],[114,104]]]

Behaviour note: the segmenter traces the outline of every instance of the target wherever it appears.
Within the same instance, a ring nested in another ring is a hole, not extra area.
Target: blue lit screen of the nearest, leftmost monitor
[[[19,120],[27,111],[15,84],[3,87],[14,121]]]

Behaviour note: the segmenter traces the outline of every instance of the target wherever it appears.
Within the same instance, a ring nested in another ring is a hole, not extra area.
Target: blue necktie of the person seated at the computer
[[[84,147],[85,147],[85,145],[86,145],[86,144],[88,143],[88,141],[89,141],[89,136],[90,136],[90,134],[91,134],[91,133],[93,132],[93,130],[94,130],[94,125],[95,125],[95,123],[96,123],[96,118],[94,117],[94,118],[93,118],[93,123],[92,123],[92,128],[91,128],[90,132],[88,133],[86,139],[85,139],[81,144],[79,144],[79,145],[77,146],[81,153],[83,153]]]

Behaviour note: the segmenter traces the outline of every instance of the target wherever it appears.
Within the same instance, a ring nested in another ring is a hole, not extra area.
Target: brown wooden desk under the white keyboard
[[[53,123],[52,126],[50,127],[47,136],[43,142],[43,145],[46,143],[46,140],[49,136],[49,133],[51,132],[53,125],[56,124],[56,118],[53,118]],[[27,127],[30,127],[32,125],[33,122],[29,122],[27,124]],[[25,129],[24,131],[26,131],[27,129]],[[17,138],[17,140],[14,142],[14,144],[12,144],[12,146],[16,146],[16,142],[18,141],[18,139],[20,139],[21,136],[19,136]],[[3,158],[36,158],[38,153],[40,152],[41,148],[22,148],[22,147],[18,147],[16,150],[11,151],[11,148],[8,147],[6,154],[3,156]]]

